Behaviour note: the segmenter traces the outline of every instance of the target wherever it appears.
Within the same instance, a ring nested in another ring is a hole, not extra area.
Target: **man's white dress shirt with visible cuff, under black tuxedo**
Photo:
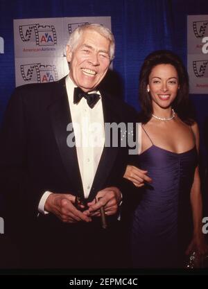
[[[76,85],[69,76],[66,78],[66,87],[69,100],[69,109],[71,112],[71,121],[73,123],[73,132],[76,140],[78,166],[80,168],[80,175],[83,182],[84,195],[85,198],[87,198],[94,181],[94,176],[96,174],[105,143],[103,105],[101,99],[99,99],[96,105],[94,105],[93,108],[90,108],[84,97],[78,104],[74,104],[73,90]],[[96,91],[96,93],[100,94],[99,91]],[[46,191],[42,195],[38,206],[38,211],[40,211],[40,213],[47,213],[44,210],[44,204],[50,194],[50,191]]]

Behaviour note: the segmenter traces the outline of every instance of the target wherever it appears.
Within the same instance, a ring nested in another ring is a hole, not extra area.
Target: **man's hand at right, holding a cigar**
[[[114,215],[118,210],[120,202],[121,191],[115,186],[110,186],[98,191],[96,199],[87,203],[89,209],[83,213],[90,213],[90,216],[101,216],[100,209],[104,207],[107,216]]]

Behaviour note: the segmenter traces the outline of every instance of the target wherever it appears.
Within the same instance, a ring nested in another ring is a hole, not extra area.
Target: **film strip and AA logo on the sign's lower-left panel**
[[[54,64],[21,64],[21,76],[24,81],[53,82],[58,80],[58,72]]]

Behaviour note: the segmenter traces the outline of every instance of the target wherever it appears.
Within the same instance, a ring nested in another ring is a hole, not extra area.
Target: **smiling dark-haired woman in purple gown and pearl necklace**
[[[178,268],[207,252],[202,234],[198,125],[189,116],[187,71],[171,51],[155,51],[139,77],[141,152],[124,177],[142,187],[132,219],[136,268]],[[141,169],[139,169],[139,168]]]

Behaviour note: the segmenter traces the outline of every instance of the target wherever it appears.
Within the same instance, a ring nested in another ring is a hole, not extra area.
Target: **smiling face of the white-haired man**
[[[85,92],[92,91],[110,65],[110,40],[94,30],[85,30],[76,49],[71,51],[67,46],[67,61],[73,82]]]

